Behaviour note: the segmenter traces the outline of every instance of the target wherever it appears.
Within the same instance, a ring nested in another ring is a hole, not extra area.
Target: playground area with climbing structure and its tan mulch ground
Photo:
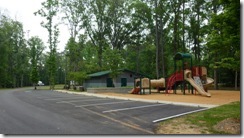
[[[128,93],[104,92],[103,95],[189,104],[223,105],[240,101],[240,91],[213,90],[214,79],[204,66],[193,66],[192,55],[174,56],[174,73],[167,78],[135,78]]]

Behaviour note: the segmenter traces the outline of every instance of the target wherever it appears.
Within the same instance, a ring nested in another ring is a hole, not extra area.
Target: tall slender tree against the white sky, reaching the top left
[[[58,13],[59,2],[58,0],[47,0],[42,3],[42,8],[35,12],[35,15],[44,17],[47,22],[41,22],[42,27],[48,31],[48,43],[49,43],[49,84],[50,89],[53,90],[55,87],[55,75],[56,75],[56,47],[58,43],[59,29],[57,24],[54,24],[55,16]]]

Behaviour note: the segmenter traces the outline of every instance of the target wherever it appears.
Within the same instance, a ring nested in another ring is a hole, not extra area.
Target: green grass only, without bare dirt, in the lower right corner
[[[211,108],[206,111],[189,114],[183,117],[180,117],[184,120],[184,123],[190,123],[198,126],[199,128],[207,128],[208,132],[211,134],[228,134],[226,132],[221,132],[214,130],[214,126],[218,124],[220,121],[225,120],[227,118],[235,118],[241,120],[241,103],[233,102],[230,104],[218,106],[215,108]],[[175,118],[179,119],[179,118]],[[161,125],[170,124],[174,119],[167,120],[162,122]],[[204,133],[204,132],[202,132]]]

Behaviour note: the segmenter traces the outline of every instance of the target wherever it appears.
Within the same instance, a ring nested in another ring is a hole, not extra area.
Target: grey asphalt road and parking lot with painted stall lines
[[[155,119],[201,107],[49,90],[0,90],[1,134],[154,134]]]

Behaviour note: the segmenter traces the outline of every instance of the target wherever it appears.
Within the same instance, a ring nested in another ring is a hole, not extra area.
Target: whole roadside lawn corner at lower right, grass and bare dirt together
[[[159,134],[240,134],[241,103],[233,102],[206,111],[161,122]]]

